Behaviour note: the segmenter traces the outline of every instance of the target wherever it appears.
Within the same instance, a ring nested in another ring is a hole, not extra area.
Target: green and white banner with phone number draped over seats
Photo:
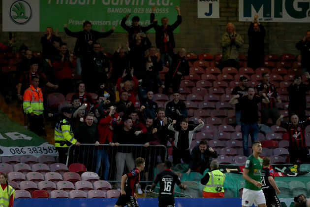
[[[58,156],[54,145],[25,129],[0,111],[0,156]]]

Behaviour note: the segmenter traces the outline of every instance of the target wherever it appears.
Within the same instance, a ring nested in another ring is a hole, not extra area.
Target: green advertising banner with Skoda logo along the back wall
[[[178,15],[175,6],[179,5],[180,0],[3,0],[2,29],[45,32],[47,27],[53,27],[63,32],[67,24],[70,31],[76,32],[83,30],[83,22],[88,20],[96,31],[106,32],[114,26],[115,32],[125,32],[121,21],[126,14],[130,13],[127,25],[131,25],[133,16],[140,17],[140,25],[149,25],[155,6],[158,24],[162,17],[168,17],[173,24]],[[179,32],[179,28],[174,31]]]

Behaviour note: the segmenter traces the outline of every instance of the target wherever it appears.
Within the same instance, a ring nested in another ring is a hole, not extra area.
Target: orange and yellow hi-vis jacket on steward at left
[[[44,106],[43,106],[43,95],[42,91],[39,87],[37,87],[37,91],[31,85],[24,93],[24,101],[23,108],[25,113],[33,113],[35,115],[43,114]]]

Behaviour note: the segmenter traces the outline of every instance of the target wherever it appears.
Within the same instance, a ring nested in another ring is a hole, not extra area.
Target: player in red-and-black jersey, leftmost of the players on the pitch
[[[139,207],[135,190],[140,180],[140,172],[145,167],[144,159],[142,157],[136,158],[135,165],[136,167],[131,172],[122,176],[121,195],[114,207]]]

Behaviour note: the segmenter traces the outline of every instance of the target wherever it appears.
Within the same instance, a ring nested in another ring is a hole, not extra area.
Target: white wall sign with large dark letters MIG
[[[310,22],[310,0],[239,0],[239,21]]]

